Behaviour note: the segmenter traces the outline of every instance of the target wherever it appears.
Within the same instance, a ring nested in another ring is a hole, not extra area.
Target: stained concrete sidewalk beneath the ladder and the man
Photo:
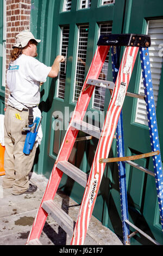
[[[32,194],[13,196],[11,188],[2,189],[2,179],[3,176],[0,176],[0,245],[25,245],[48,180],[42,175],[33,173],[30,182],[37,185],[37,191]],[[54,200],[76,221],[80,208],[76,202],[61,191],[57,192]],[[40,236],[42,245],[70,245],[70,241],[71,237],[51,216],[48,216]],[[92,216],[85,245],[122,245],[122,242]]]

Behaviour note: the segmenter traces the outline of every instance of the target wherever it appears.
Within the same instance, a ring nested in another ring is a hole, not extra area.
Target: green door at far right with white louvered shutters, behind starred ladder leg
[[[156,117],[160,137],[160,147],[163,150],[162,141],[162,53],[163,43],[163,2],[156,0],[127,1],[130,8],[130,19],[126,22],[123,33],[137,33],[151,35],[152,45],[149,48],[153,90],[156,104]],[[139,14],[139,15],[138,15]],[[140,58],[137,63],[128,91],[143,93]],[[126,155],[142,154],[151,151],[149,141],[148,120],[146,116],[145,101],[126,97],[123,107],[124,143]],[[153,169],[152,157],[135,161],[149,170]],[[163,244],[163,236],[159,218],[159,208],[156,196],[155,179],[134,167],[126,166],[129,218],[137,227]],[[152,244],[142,236],[137,235],[131,239],[132,244]]]

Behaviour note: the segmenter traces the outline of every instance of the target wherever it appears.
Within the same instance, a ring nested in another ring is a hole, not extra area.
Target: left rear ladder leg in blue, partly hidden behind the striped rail
[[[116,82],[118,69],[119,69],[119,48],[111,46],[112,57],[112,76],[113,82]],[[118,120],[116,129],[117,141],[117,156],[124,156],[124,139],[123,139],[123,115],[122,111]],[[118,176],[120,183],[120,200],[121,200],[121,215],[122,215],[122,231],[123,231],[123,244],[130,243],[128,235],[130,234],[129,225],[125,222],[128,220],[128,203],[127,203],[127,188],[126,188],[126,169],[124,162],[118,162]]]

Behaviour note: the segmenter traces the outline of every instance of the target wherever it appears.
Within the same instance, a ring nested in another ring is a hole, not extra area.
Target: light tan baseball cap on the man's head
[[[22,31],[16,35],[16,44],[12,48],[23,48],[27,46],[28,42],[32,39],[38,43],[41,42],[41,40],[35,39],[34,35],[30,31]]]

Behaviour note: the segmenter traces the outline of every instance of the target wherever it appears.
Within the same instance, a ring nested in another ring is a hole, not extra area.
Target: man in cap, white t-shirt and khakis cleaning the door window
[[[40,41],[31,32],[19,33],[12,47],[7,71],[10,96],[4,117],[3,188],[12,188],[14,195],[33,193],[37,189],[35,185],[29,184],[28,178],[34,162],[36,143],[29,155],[23,154],[26,132],[22,132],[22,128],[28,125],[29,109],[30,112],[31,109],[40,112],[37,108],[40,103],[40,82],[46,82],[47,76],[57,77],[60,63],[65,61],[64,56],[57,56],[53,65],[48,67],[35,59]]]

